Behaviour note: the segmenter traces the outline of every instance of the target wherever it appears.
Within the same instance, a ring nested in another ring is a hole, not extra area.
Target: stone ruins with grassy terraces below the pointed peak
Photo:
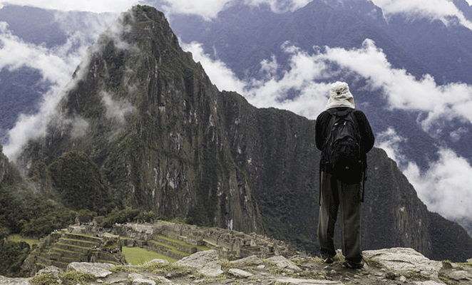
[[[170,250],[168,245],[177,251]],[[122,247],[141,247],[174,259],[183,259],[205,250],[200,246],[214,249],[220,258],[230,260],[253,255],[260,259],[275,256],[288,258],[297,254],[282,241],[230,229],[165,221],[115,224],[112,229],[103,229],[100,223],[90,222],[70,225],[68,229],[54,231],[41,239],[39,246],[25,260],[23,269],[35,274],[44,266],[65,269],[71,262],[125,264]]]

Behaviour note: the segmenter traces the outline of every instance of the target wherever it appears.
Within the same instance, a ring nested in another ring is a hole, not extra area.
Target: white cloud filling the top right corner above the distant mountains
[[[430,19],[442,21],[446,26],[456,24],[456,19],[463,26],[472,30],[472,22],[457,9],[449,0],[373,0],[387,17],[393,14],[403,14],[412,21],[415,19]],[[456,19],[455,19],[456,18]]]

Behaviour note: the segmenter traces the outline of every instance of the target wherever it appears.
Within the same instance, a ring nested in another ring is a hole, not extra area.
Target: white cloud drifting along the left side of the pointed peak
[[[66,21],[68,18],[57,17],[59,23],[61,23],[61,19]],[[86,72],[84,68],[78,68],[78,66],[88,64],[87,53],[98,49],[94,49],[93,46],[89,49],[91,41],[95,41],[96,37],[103,32],[103,27],[109,24],[108,21],[110,18],[106,17],[103,21],[91,22],[86,31],[79,30],[69,33],[66,43],[50,49],[46,46],[22,41],[21,38],[14,36],[9,31],[6,23],[0,22],[0,69],[34,68],[41,73],[43,81],[51,84],[51,88],[43,94],[39,112],[34,115],[20,115],[14,128],[9,130],[8,142],[4,145],[4,154],[11,160],[16,159],[24,143],[46,132],[46,125],[54,115],[57,120],[61,118],[60,115],[57,117],[56,105],[63,95],[76,85],[78,78],[81,78]],[[63,26],[67,25],[71,25],[71,23],[68,22]],[[108,36],[116,38],[117,46],[120,46],[117,36],[119,31],[119,28],[110,28],[107,32]],[[83,60],[84,58],[85,60]],[[74,71],[77,71],[77,76],[71,80]],[[76,134],[83,133],[87,127],[86,121],[80,118],[64,121],[62,124],[76,128],[78,130]]]

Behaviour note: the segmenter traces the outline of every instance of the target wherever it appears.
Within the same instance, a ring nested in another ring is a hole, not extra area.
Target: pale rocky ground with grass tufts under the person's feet
[[[155,259],[140,266],[73,263],[62,272],[53,266],[33,278],[9,279],[0,284],[472,284],[472,260],[453,264],[431,261],[414,249],[396,248],[364,252],[364,269],[345,269],[343,257],[323,264],[317,257],[299,255],[286,259],[256,256],[235,261],[219,259],[217,252],[197,252],[175,264]]]

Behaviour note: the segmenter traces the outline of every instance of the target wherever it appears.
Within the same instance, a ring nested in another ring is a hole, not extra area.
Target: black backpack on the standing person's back
[[[364,167],[361,158],[361,135],[354,109],[327,110],[332,115],[328,140],[324,142],[324,163],[332,174],[346,183],[361,182]]]

